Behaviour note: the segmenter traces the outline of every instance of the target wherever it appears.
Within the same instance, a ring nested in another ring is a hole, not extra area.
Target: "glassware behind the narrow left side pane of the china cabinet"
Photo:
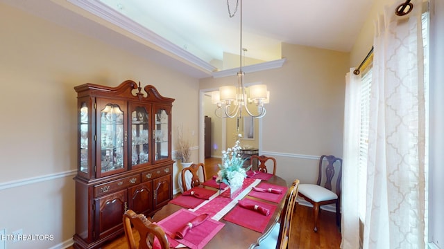
[[[80,171],[88,172],[88,107],[85,102],[80,105]]]

